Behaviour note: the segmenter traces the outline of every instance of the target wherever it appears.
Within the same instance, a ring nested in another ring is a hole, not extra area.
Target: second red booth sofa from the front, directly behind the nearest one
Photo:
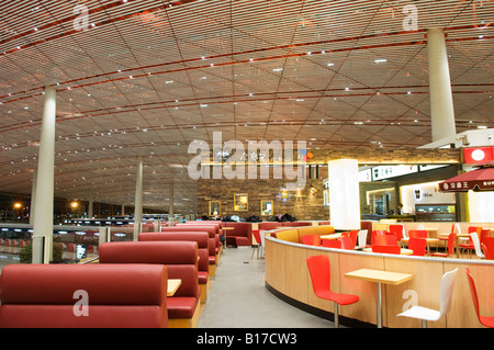
[[[182,283],[167,301],[168,327],[195,327],[200,315],[198,244],[195,241],[119,241],[100,246],[100,263],[165,264],[169,279]]]

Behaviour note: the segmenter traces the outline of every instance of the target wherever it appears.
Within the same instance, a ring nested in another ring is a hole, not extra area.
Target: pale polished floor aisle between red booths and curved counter
[[[251,248],[227,248],[212,282],[198,328],[332,328],[272,295],[263,284],[265,260]],[[340,325],[341,326],[341,325]]]

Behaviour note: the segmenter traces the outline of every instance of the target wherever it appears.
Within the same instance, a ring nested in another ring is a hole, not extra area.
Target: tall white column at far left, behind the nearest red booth
[[[37,158],[36,194],[33,223],[33,263],[48,263],[53,257],[53,201],[55,179],[56,90],[45,89],[45,105]],[[45,236],[42,246],[40,236]],[[43,257],[44,250],[44,259]]]

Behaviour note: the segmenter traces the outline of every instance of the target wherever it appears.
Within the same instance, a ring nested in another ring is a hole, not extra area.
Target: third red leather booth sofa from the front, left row
[[[164,241],[164,240],[165,241],[187,240],[198,242],[198,255],[199,255],[198,275],[199,275],[199,285],[201,287],[201,302],[204,303],[207,297],[207,289],[210,282],[210,274],[209,274],[210,240],[207,233],[167,232],[167,233],[139,234],[139,241]]]

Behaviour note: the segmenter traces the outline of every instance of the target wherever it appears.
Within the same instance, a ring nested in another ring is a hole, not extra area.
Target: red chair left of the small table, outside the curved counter
[[[334,293],[332,291],[332,272],[327,256],[313,256],[307,258],[312,287],[317,297],[335,303],[335,328],[339,327],[339,305],[349,305],[359,301],[358,295]]]

